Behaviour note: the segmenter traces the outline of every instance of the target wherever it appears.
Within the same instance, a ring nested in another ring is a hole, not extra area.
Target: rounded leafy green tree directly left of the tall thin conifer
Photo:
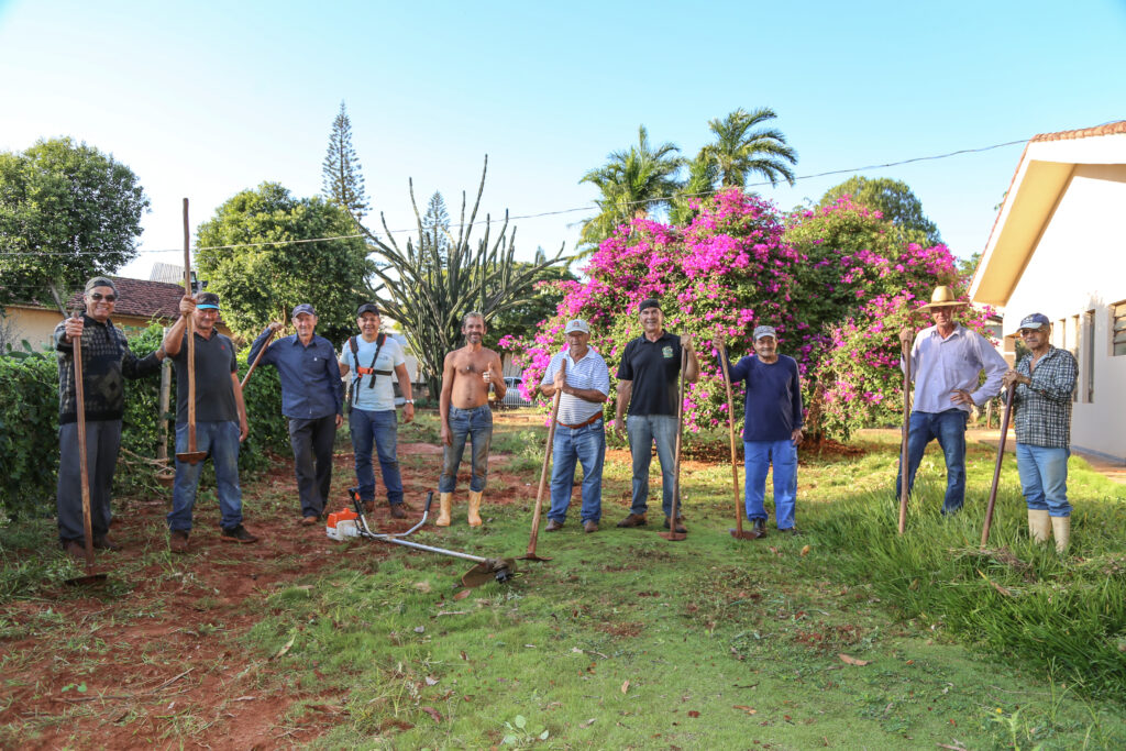
[[[361,238],[316,239],[352,234],[355,226],[337,204],[295,198],[263,182],[199,225],[196,263],[239,336],[252,338],[271,320],[288,321],[294,305],[312,303],[318,333],[336,343],[351,332],[356,307],[369,296],[374,263]]]

